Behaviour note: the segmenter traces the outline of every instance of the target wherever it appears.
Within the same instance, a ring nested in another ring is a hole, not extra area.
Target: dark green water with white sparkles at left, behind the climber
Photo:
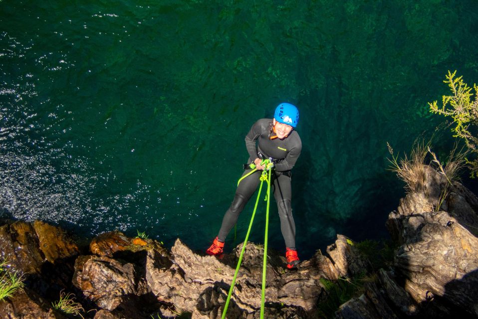
[[[475,0],[3,0],[0,25],[4,214],[198,250],[233,198],[245,134],[283,101],[300,110],[300,254],[337,233],[386,236],[404,195],[386,142],[408,152],[444,122],[427,102],[448,70],[478,81]],[[449,129],[436,137],[446,153]]]

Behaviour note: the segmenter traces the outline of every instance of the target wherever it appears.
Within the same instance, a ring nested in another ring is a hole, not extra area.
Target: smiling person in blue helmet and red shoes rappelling
[[[234,200],[226,211],[218,236],[206,253],[220,256],[224,251],[224,242],[236,224],[239,214],[255,192],[259,184],[261,171],[266,169],[261,164],[264,159],[272,159],[273,172],[271,187],[280,217],[280,230],[286,246],[287,268],[295,268],[300,260],[295,247],[295,223],[291,206],[291,169],[302,149],[302,142],[294,130],[299,121],[297,108],[289,103],[279,104],[273,119],[260,119],[252,125],[245,137],[245,146],[249,154],[248,164],[254,163],[257,171],[239,182]],[[252,170],[248,165],[242,176]],[[272,182],[273,181],[273,182]]]

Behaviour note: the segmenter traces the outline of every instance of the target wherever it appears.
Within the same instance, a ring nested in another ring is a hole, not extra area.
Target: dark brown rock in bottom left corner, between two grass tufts
[[[13,297],[0,301],[2,319],[65,319],[49,303],[29,289],[18,290]]]

